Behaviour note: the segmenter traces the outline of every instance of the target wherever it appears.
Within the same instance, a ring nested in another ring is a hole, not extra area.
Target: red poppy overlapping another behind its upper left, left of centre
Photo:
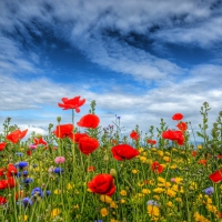
[[[91,152],[97,150],[100,147],[100,143],[97,139],[90,138],[90,137],[82,137],[79,140],[79,150],[84,153],[85,155],[89,155]]]

